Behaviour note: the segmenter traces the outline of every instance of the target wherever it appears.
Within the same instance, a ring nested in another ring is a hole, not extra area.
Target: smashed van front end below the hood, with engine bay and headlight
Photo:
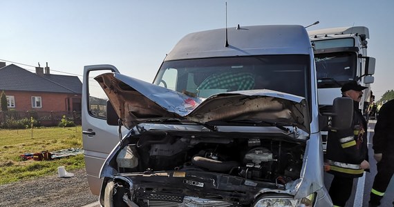
[[[180,130],[151,124],[131,130],[102,170],[100,201],[104,206],[311,206],[313,194],[294,199],[305,137],[290,138],[299,133],[290,129],[289,137],[279,128],[245,128],[250,127],[207,132],[201,126]]]

